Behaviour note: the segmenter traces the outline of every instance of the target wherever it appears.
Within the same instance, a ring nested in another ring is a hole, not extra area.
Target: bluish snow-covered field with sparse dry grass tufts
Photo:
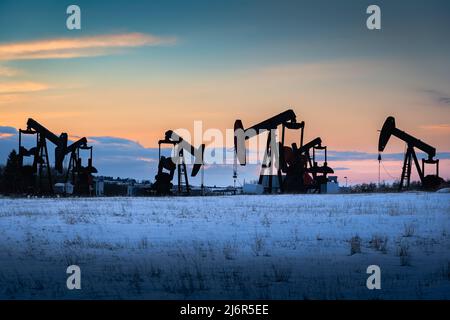
[[[0,198],[0,298],[449,299],[450,194]]]

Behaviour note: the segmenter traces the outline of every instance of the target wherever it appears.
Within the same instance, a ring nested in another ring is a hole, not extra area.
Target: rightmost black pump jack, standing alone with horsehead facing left
[[[396,128],[394,117],[388,117],[380,131],[378,140],[378,161],[381,162],[381,152],[384,151],[391,136],[395,136],[400,140],[405,141],[407,145],[403,159],[402,175],[400,176],[400,184],[398,187],[399,191],[405,187],[405,182],[407,189],[410,186],[412,161],[414,161],[419,179],[422,183],[422,188],[435,189],[444,182],[444,180],[439,177],[439,159],[434,159],[436,156],[436,148]],[[419,161],[417,160],[415,148],[425,152],[428,156],[427,159],[422,159],[422,167],[420,167]],[[436,174],[425,175],[425,164],[436,165]]]

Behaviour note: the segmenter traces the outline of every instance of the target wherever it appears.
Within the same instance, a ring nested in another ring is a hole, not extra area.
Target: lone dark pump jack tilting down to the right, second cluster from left
[[[161,145],[168,144],[174,148],[174,157],[165,157],[161,155]],[[199,148],[193,147],[181,136],[168,130],[165,133],[163,140],[158,141],[159,149],[159,163],[158,163],[158,173],[155,176],[155,183],[153,184],[153,189],[159,195],[170,194],[173,184],[172,180],[175,175],[175,170],[177,170],[178,178],[178,193],[179,194],[189,194],[191,187],[189,185],[186,162],[184,158],[184,152],[189,152],[194,156],[194,165],[191,172],[191,177],[195,177],[200,171],[203,165],[203,156],[205,152],[205,145],[202,144]],[[184,181],[183,181],[184,179]],[[203,190],[203,181],[202,181]]]

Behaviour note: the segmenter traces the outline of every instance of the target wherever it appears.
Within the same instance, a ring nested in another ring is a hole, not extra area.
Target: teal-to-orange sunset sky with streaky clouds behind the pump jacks
[[[66,28],[70,4],[81,30]],[[366,28],[370,4],[380,31]],[[0,161],[32,117],[90,137],[105,152],[100,173],[103,161],[106,174],[152,179],[149,152],[166,130],[202,120],[224,131],[292,108],[306,140],[339,155],[341,178],[377,179],[389,115],[437,148],[450,178],[448,39],[447,0],[0,0]],[[394,139],[386,149],[394,176],[403,150]],[[135,169],[114,171],[125,155]]]

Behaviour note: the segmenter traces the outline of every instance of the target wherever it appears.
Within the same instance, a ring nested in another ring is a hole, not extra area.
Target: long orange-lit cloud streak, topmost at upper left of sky
[[[57,38],[27,42],[0,43],[0,60],[68,59],[106,55],[131,47],[174,44],[173,37],[143,33]]]

